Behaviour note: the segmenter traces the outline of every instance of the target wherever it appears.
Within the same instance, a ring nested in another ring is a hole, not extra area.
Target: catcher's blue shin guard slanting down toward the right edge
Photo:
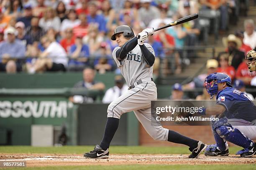
[[[238,129],[232,128],[231,125],[228,127],[220,126],[215,128],[215,130],[223,139],[243,148],[248,148],[253,144],[252,140],[243,136],[243,134]]]

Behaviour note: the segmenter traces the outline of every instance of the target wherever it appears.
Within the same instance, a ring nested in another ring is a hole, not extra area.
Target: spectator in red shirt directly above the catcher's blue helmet
[[[218,62],[219,67],[217,72],[228,74],[228,76],[234,80],[236,71],[233,66],[228,65],[228,53],[222,53],[218,58]]]

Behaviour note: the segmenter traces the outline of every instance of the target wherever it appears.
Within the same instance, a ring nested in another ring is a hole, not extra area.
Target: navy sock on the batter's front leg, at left
[[[100,143],[100,147],[103,150],[109,148],[110,142],[114,137],[115,131],[118,129],[119,119],[114,117],[108,117],[104,137]]]

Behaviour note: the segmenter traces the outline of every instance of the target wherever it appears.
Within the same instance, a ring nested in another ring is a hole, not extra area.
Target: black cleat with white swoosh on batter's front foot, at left
[[[103,150],[100,145],[96,145],[94,150],[84,153],[84,157],[88,157],[88,158],[102,158],[102,159],[106,159],[108,158],[109,155],[109,149],[107,150]]]

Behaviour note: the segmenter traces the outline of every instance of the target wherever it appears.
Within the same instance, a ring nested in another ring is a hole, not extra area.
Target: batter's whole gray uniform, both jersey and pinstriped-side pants
[[[145,46],[155,56],[153,48],[148,43],[145,43]],[[119,48],[114,49],[113,58],[128,86],[135,83],[135,87],[110,103],[108,117],[120,119],[123,113],[134,111],[138,121],[154,140],[168,140],[169,130],[163,128],[151,114],[151,101],[157,99],[156,84],[151,81],[153,66],[148,66],[142,57],[139,45],[133,48],[122,61],[116,58],[116,51]],[[137,85],[136,82],[141,79],[143,83]]]

